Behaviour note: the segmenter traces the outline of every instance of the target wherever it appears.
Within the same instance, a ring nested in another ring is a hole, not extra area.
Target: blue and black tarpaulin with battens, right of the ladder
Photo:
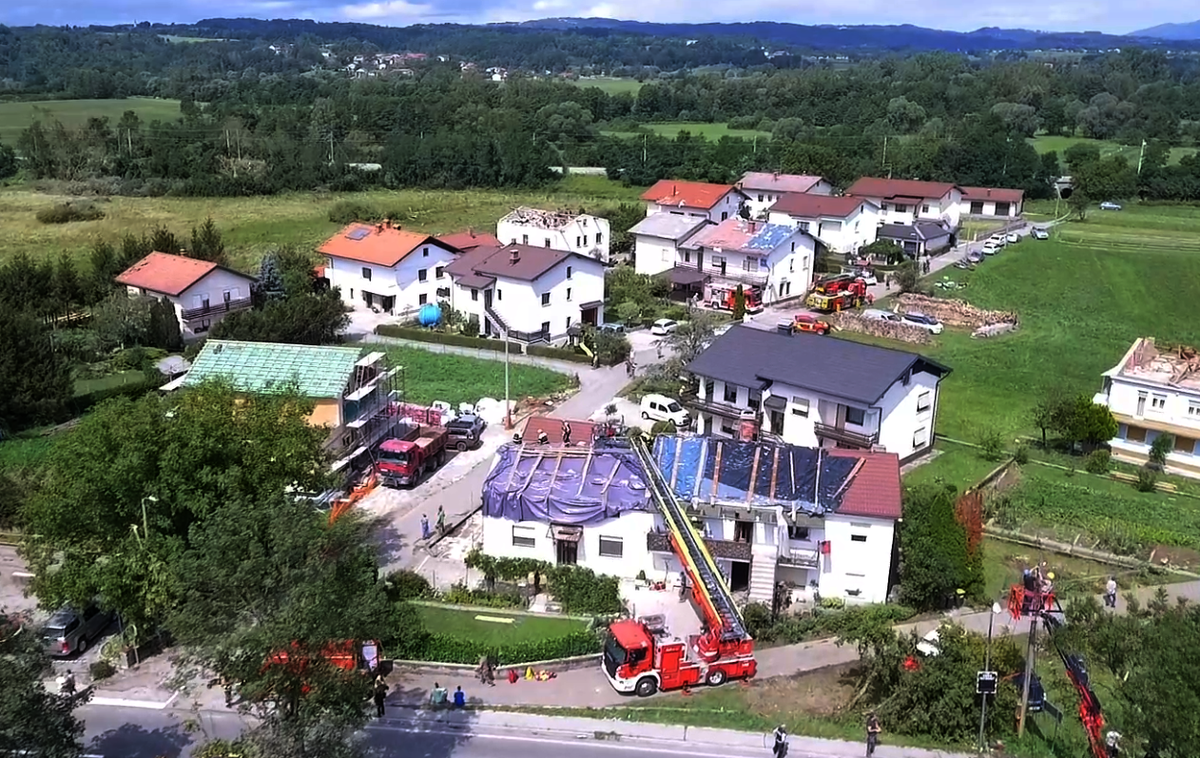
[[[858,465],[812,447],[710,437],[661,435],[654,459],[684,503],[782,505],[809,515],[836,511]]]

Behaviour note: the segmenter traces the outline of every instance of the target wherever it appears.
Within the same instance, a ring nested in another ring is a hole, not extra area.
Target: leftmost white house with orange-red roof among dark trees
[[[204,336],[227,313],[252,307],[254,277],[185,255],[150,253],[116,276],[133,296],[166,297],[184,339]]]

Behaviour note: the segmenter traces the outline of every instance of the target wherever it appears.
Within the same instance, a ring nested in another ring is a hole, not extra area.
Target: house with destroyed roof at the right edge
[[[1142,337],[1121,362],[1104,372],[1104,386],[1092,398],[1108,407],[1118,428],[1109,441],[1112,457],[1127,463],[1150,461],[1150,446],[1174,438],[1166,470],[1200,477],[1200,359],[1193,348],[1159,348]]]

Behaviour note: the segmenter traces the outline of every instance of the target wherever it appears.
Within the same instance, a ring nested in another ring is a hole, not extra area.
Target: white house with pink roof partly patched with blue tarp
[[[815,240],[797,227],[736,216],[682,242],[674,271],[707,276],[706,301],[716,299],[713,290],[742,284],[761,288],[767,305],[808,291],[815,248]]]

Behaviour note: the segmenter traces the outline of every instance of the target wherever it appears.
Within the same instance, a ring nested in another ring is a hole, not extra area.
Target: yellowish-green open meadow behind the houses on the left
[[[86,258],[95,240],[116,242],[127,231],[142,234],[163,224],[176,234],[211,216],[235,266],[253,265],[266,251],[295,245],[312,249],[340,224],[329,221],[329,210],[353,200],[402,209],[406,227],[445,234],[473,227],[493,231],[500,216],[518,205],[541,207],[584,207],[595,211],[625,200],[636,200],[636,187],[622,187],[602,176],[569,175],[542,192],[434,192],[421,190],[358,193],[296,193],[252,198],[125,198],[114,197],[98,205],[104,218],[68,224],[43,224],[35,215],[68,199],[35,192],[28,187],[0,188],[0,258],[19,252],[35,258],[58,257],[61,251]]]

